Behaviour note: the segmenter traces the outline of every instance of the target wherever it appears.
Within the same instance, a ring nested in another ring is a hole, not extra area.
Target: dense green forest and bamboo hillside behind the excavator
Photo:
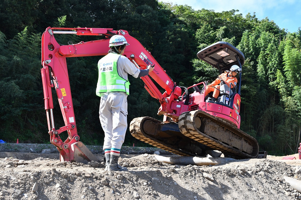
[[[194,10],[157,0],[2,0],[0,2],[0,139],[49,143],[41,79],[41,36],[51,27],[124,29],[138,39],[181,86],[213,80],[215,68],[196,53],[217,41],[240,49],[242,71],[241,129],[270,155],[297,152],[301,114],[301,30],[290,33],[255,13]],[[56,36],[60,44],[100,37]],[[78,134],[86,145],[102,145],[104,134],[95,95],[99,56],[67,59]],[[159,102],[130,77],[128,123],[157,116]],[[55,100],[56,94],[53,91]],[[54,101],[55,126],[64,126]],[[62,134],[61,134],[62,135]],[[66,134],[67,135],[67,134]],[[124,146],[145,146],[129,131]]]

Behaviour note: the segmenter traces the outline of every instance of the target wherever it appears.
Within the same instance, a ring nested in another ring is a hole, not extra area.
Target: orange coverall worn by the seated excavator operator
[[[219,75],[219,77],[221,77],[229,87],[230,87],[230,83],[232,83],[231,88],[233,88],[237,84],[237,78],[235,76],[231,76],[230,73],[231,72],[222,73],[221,75]],[[221,82],[221,80],[219,80],[219,78],[217,78],[211,84],[207,85],[206,90],[205,90],[205,96],[207,96],[209,94],[209,92],[213,92],[213,97],[217,98],[219,96],[218,89],[220,87],[219,86],[220,82]],[[217,89],[214,87],[216,87]]]

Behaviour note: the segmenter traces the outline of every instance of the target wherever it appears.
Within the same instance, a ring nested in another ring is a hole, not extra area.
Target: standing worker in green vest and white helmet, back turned
[[[104,130],[105,170],[126,171],[126,167],[118,164],[120,148],[124,142],[127,129],[129,95],[128,74],[138,78],[148,75],[154,67],[138,69],[130,60],[123,56],[129,45],[122,35],[110,38],[110,50],[98,61],[98,82],[96,95],[100,96],[99,119]]]

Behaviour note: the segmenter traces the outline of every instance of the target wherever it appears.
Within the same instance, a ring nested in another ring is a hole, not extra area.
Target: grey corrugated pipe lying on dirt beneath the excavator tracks
[[[220,163],[227,163],[230,161],[234,161],[236,159],[233,158],[207,158],[207,157],[195,157],[195,156],[177,156],[177,157],[164,157],[155,155],[155,158],[158,161],[166,162],[169,164],[176,165],[218,165]]]

